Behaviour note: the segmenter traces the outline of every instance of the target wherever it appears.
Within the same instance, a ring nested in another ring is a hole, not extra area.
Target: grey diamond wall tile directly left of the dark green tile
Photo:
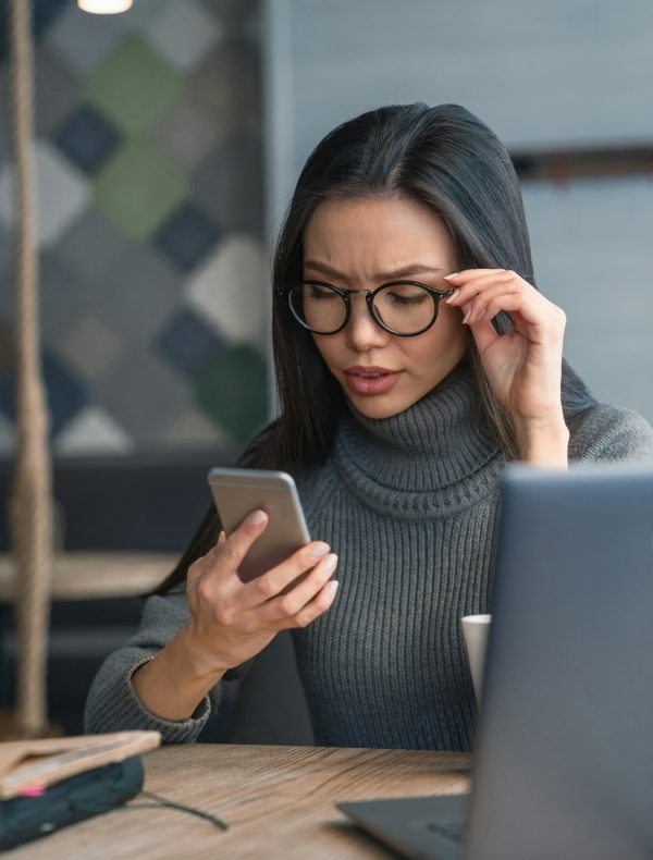
[[[185,381],[141,346],[125,352],[97,381],[94,393],[138,445],[163,446],[165,434],[193,401]]]

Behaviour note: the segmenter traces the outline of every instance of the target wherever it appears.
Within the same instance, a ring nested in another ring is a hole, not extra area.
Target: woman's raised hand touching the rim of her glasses
[[[565,312],[509,270],[466,269],[446,280],[457,292],[445,300],[463,311],[490,386],[515,422],[560,422]],[[510,314],[512,334],[492,328],[500,310]]]

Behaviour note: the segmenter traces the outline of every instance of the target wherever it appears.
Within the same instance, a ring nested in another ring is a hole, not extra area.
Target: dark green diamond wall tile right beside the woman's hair
[[[260,353],[232,346],[201,374],[197,403],[235,442],[248,442],[268,420],[268,372]]]

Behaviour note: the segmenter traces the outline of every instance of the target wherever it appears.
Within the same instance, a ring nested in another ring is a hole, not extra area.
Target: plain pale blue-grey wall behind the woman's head
[[[330,128],[458,102],[522,179],[540,288],[603,401],[653,421],[653,3],[271,0],[271,222]]]

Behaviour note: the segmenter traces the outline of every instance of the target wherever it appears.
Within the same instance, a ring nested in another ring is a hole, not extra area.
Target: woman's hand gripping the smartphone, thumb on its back
[[[321,541],[242,581],[238,567],[267,525],[263,511],[252,512],[229,538],[221,532],[215,546],[188,568],[190,619],[180,636],[197,677],[221,676],[262,651],[279,630],[306,627],[333,603],[337,556]]]

